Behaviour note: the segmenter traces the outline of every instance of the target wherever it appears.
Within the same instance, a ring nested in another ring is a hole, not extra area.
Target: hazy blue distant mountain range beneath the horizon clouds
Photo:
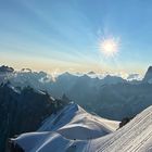
[[[152,66],[141,80],[135,79],[137,74],[130,75],[128,80],[113,75],[96,77],[93,72],[84,75],[66,72],[54,79],[45,72],[22,69],[10,73],[8,68],[12,67],[5,67],[5,73],[0,72],[0,81],[10,81],[14,88],[21,89],[30,86],[53,98],[66,94],[88,112],[94,112],[102,117],[122,121],[126,116],[135,116],[152,104]]]

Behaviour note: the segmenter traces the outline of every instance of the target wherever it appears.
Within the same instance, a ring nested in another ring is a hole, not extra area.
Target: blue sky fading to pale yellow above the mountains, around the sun
[[[111,56],[106,39],[117,42]],[[0,64],[143,74],[151,56],[151,0],[0,0]]]

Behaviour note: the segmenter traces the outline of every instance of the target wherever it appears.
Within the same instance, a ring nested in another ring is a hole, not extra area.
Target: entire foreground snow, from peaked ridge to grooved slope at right
[[[123,128],[118,124],[73,103],[47,118],[37,132],[12,140],[25,152],[152,152],[152,106]]]

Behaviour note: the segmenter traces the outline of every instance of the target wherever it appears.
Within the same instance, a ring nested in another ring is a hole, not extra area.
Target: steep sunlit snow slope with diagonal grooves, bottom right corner
[[[98,152],[152,152],[152,106],[101,140]]]

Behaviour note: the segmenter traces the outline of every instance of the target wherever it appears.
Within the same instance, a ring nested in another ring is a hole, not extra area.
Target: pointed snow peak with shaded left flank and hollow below
[[[86,140],[113,132],[118,128],[118,124],[91,115],[72,103],[55,117],[48,118],[38,131],[56,131],[67,139]]]

